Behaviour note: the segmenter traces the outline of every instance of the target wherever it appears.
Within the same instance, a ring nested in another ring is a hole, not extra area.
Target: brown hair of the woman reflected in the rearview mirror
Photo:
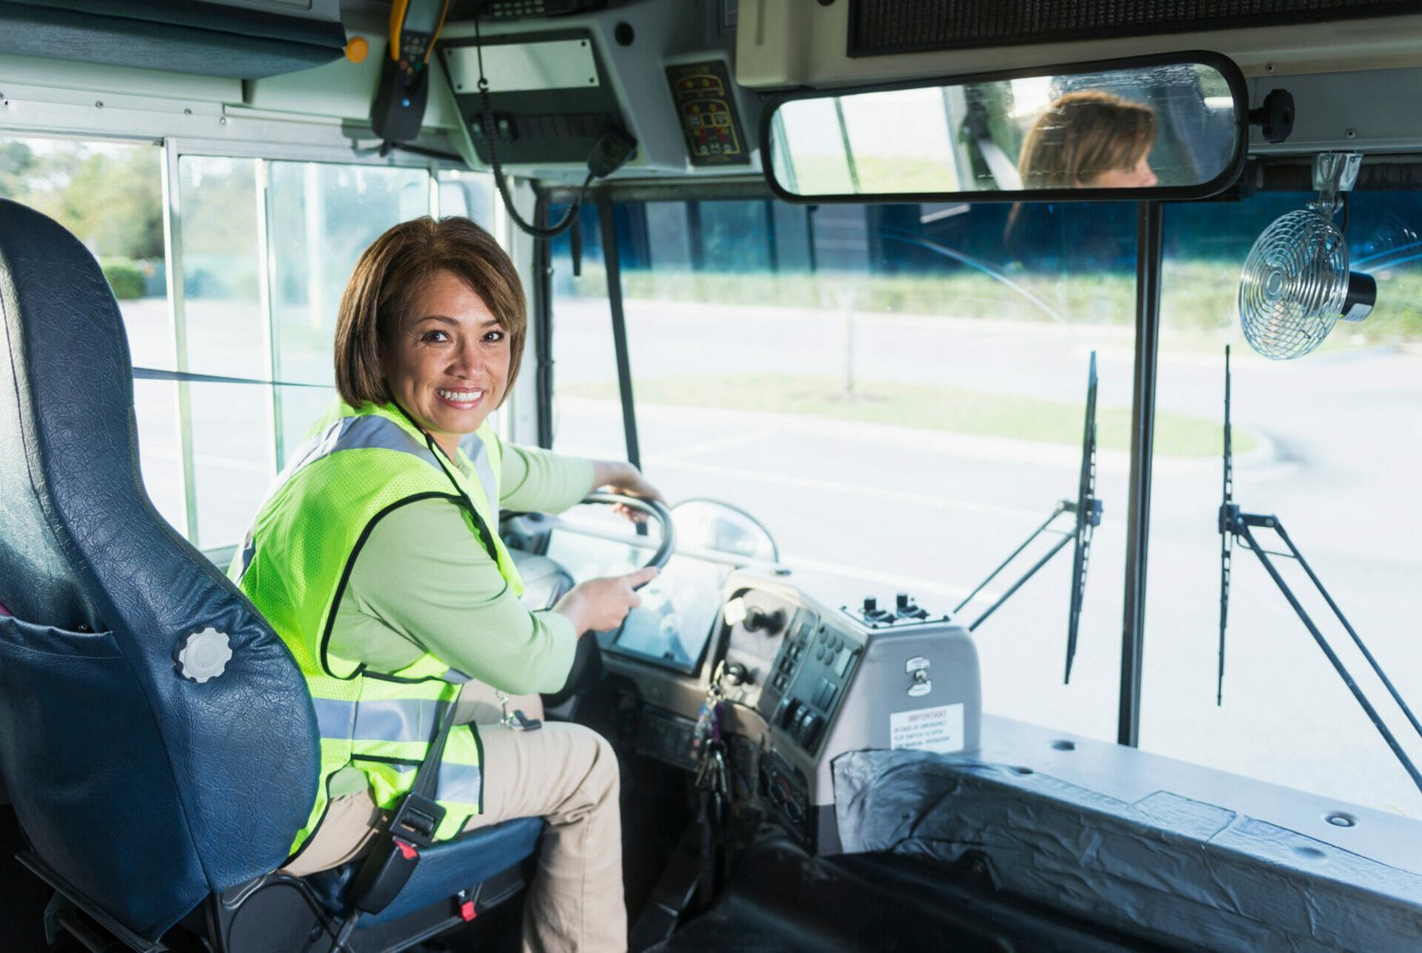
[[[1037,117],[1022,141],[1022,188],[1075,189],[1102,172],[1129,169],[1150,151],[1155,127],[1150,107],[1103,90],[1068,92]]]

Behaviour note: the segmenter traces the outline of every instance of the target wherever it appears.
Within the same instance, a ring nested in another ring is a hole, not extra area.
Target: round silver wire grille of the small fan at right
[[[1258,236],[1240,273],[1244,339],[1273,360],[1301,357],[1338,323],[1348,294],[1348,245],[1327,218],[1305,209]]]

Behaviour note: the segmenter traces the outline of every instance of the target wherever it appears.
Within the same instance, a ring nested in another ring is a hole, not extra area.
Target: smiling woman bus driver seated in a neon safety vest
[[[495,437],[486,418],[513,384],[525,330],[513,263],[468,219],[397,225],[356,265],[336,330],[340,398],[233,566],[296,656],[320,725],[321,784],[292,873],[363,851],[412,784],[435,703],[459,683],[559,690],[579,633],[617,626],[638,603],[633,586],[656,575],[583,582],[549,612],[518,602],[501,505],[556,512],[603,485],[660,499],[630,464]],[[525,949],[626,949],[617,788],[611,748],[582,725],[459,725],[441,762],[437,838],[546,818]]]

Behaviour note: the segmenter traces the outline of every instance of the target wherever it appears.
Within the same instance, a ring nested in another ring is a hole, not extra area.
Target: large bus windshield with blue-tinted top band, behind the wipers
[[[1264,225],[1308,198],[1166,211],[1140,744],[1419,814],[1422,797],[1241,552],[1216,706],[1226,343],[1236,502],[1287,521],[1404,696],[1422,700],[1409,636],[1422,593],[1406,583],[1422,577],[1408,488],[1422,452],[1411,303],[1422,209],[1411,195],[1352,196],[1347,233],[1378,277],[1378,307],[1318,354],[1271,363],[1239,331],[1240,265]],[[953,610],[1058,501],[1075,501],[1095,353],[1103,518],[1071,683],[1069,545],[974,636],[985,710],[1115,740],[1136,206],[708,199],[619,203],[616,222],[644,469],[673,502],[718,496],[758,513],[798,576],[852,580],[855,597],[909,592]],[[566,239],[555,246],[555,341],[567,357],[556,447],[621,455],[596,216],[582,232],[582,277]],[[1039,536],[960,620],[977,620],[1057,539]],[[1344,661],[1364,681],[1357,651]]]

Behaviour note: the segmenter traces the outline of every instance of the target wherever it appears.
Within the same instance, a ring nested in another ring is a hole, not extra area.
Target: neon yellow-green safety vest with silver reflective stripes
[[[292,649],[316,708],[321,784],[293,851],[320,824],[330,777],[350,764],[365,772],[375,802],[394,808],[414,782],[442,706],[454,704],[468,680],[428,653],[383,674],[328,650],[350,566],[370,529],[412,501],[459,502],[474,511],[474,531],[510,589],[522,590],[502,541],[488,529],[499,498],[498,440],[481,428],[469,447],[472,459],[462,451],[451,465],[398,408],[337,403],[292,455],[232,566],[243,592]],[[456,725],[437,787],[447,811],[438,839],[454,836],[481,811],[482,779],[478,735]]]

